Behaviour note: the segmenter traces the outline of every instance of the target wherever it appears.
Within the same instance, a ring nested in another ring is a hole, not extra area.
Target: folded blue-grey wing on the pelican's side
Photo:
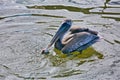
[[[69,41],[62,49],[63,53],[73,52],[81,47],[80,50],[89,47],[89,43],[93,43],[94,40],[98,39],[97,35],[90,34],[88,32],[80,32],[74,34],[71,41]],[[86,46],[84,46],[86,45]]]

